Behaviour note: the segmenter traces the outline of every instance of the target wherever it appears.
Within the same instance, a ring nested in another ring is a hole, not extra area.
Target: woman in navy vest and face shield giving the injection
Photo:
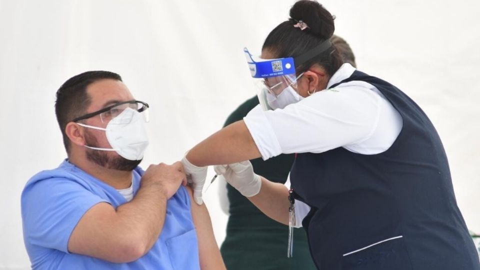
[[[397,87],[343,63],[333,31],[328,10],[300,0],[260,59],[244,50],[260,105],[183,158],[196,202],[206,166],[229,164],[215,170],[261,211],[302,223],[318,269],[480,269],[432,123]],[[290,190],[243,161],[280,153],[296,153]]]

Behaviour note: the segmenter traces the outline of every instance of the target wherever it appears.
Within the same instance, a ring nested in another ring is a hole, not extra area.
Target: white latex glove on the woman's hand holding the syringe
[[[243,196],[251,197],[260,191],[261,178],[253,172],[250,161],[241,161],[228,165],[214,166],[216,174],[221,174],[225,180]]]

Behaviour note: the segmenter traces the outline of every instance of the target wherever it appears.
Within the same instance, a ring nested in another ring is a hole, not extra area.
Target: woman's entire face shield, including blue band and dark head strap
[[[257,94],[261,107],[264,110],[282,108],[282,106],[277,105],[279,100],[276,99],[284,99],[285,94],[283,94],[283,97],[280,97],[280,94],[287,88],[298,101],[301,97],[293,88],[296,88],[296,81],[303,73],[296,76],[295,68],[329,48],[331,48],[331,43],[327,39],[299,56],[276,59],[256,58],[247,48],[243,48],[250,74],[253,78],[256,78],[255,84],[258,88]],[[280,101],[280,103],[285,102]]]

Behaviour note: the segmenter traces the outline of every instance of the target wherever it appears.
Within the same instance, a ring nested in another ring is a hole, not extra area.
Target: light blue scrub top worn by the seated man
[[[143,170],[133,170],[133,194]],[[99,202],[126,202],[113,187],[67,160],[35,174],[21,194],[23,239],[33,269],[199,269],[196,231],[185,187],[168,199],[165,222],[153,247],[129,263],[68,252],[68,238],[82,215]],[[188,257],[185,257],[188,256]]]

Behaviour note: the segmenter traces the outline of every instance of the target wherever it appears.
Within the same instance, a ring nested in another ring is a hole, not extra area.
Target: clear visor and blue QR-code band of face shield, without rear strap
[[[295,65],[292,57],[277,59],[262,59],[254,57],[247,48],[243,49],[250,69],[251,76],[254,78],[258,100],[263,110],[282,108],[281,104],[276,104],[279,96],[284,90],[288,89],[289,95],[296,93],[297,80],[302,74],[295,74]],[[293,89],[294,92],[291,92]],[[298,100],[296,100],[298,101]]]

